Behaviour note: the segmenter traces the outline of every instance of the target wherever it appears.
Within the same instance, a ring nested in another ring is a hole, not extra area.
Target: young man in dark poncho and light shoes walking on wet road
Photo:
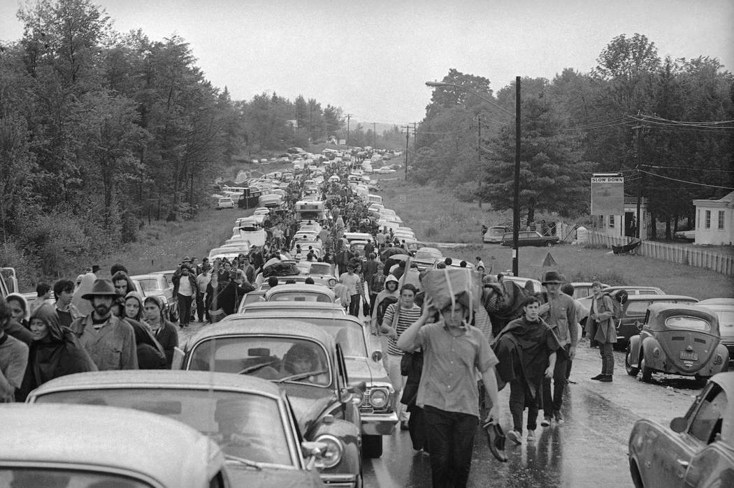
[[[556,350],[561,347],[551,327],[540,318],[537,297],[526,298],[523,311],[523,317],[509,322],[493,345],[499,359],[498,383],[500,386],[509,383],[510,388],[509,410],[514,425],[507,438],[517,444],[522,442],[526,408],[528,442],[535,440],[542,381],[553,376]]]

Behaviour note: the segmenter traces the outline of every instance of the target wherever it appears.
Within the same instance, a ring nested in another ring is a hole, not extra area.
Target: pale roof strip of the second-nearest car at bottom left
[[[43,383],[33,395],[80,388],[181,388],[237,390],[279,397],[272,382],[241,374],[170,369],[126,369],[67,374]]]

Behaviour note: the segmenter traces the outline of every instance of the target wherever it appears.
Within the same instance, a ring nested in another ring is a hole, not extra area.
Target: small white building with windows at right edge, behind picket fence
[[[696,243],[732,245],[734,243],[734,191],[718,200],[694,200]]]

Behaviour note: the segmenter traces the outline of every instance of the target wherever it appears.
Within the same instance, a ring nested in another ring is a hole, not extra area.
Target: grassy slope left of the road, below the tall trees
[[[207,209],[191,221],[153,222],[144,226],[137,242],[101,260],[104,273],[116,262],[125,265],[131,275],[175,269],[183,256],[198,262],[212,248],[222,245],[232,236],[238,217],[252,214],[252,209]]]

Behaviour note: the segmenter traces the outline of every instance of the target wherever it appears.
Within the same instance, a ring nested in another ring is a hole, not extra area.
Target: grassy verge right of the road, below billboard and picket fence
[[[487,270],[502,273],[512,270],[512,249],[498,244],[482,244],[480,228],[512,222],[511,212],[479,209],[476,204],[460,202],[451,193],[431,185],[419,186],[399,178],[382,178],[382,199],[413,229],[419,240],[438,243],[472,243],[440,248],[444,256],[454,260],[476,262],[482,257]],[[402,197],[404,196],[404,198]],[[547,254],[555,268],[543,268]],[[607,248],[586,248],[562,244],[552,248],[519,249],[519,274],[541,278],[551,269],[564,274],[569,281],[602,281],[610,285],[658,286],[667,293],[688,295],[698,299],[734,297],[731,276],[699,267],[678,265],[644,256],[616,255]]]

